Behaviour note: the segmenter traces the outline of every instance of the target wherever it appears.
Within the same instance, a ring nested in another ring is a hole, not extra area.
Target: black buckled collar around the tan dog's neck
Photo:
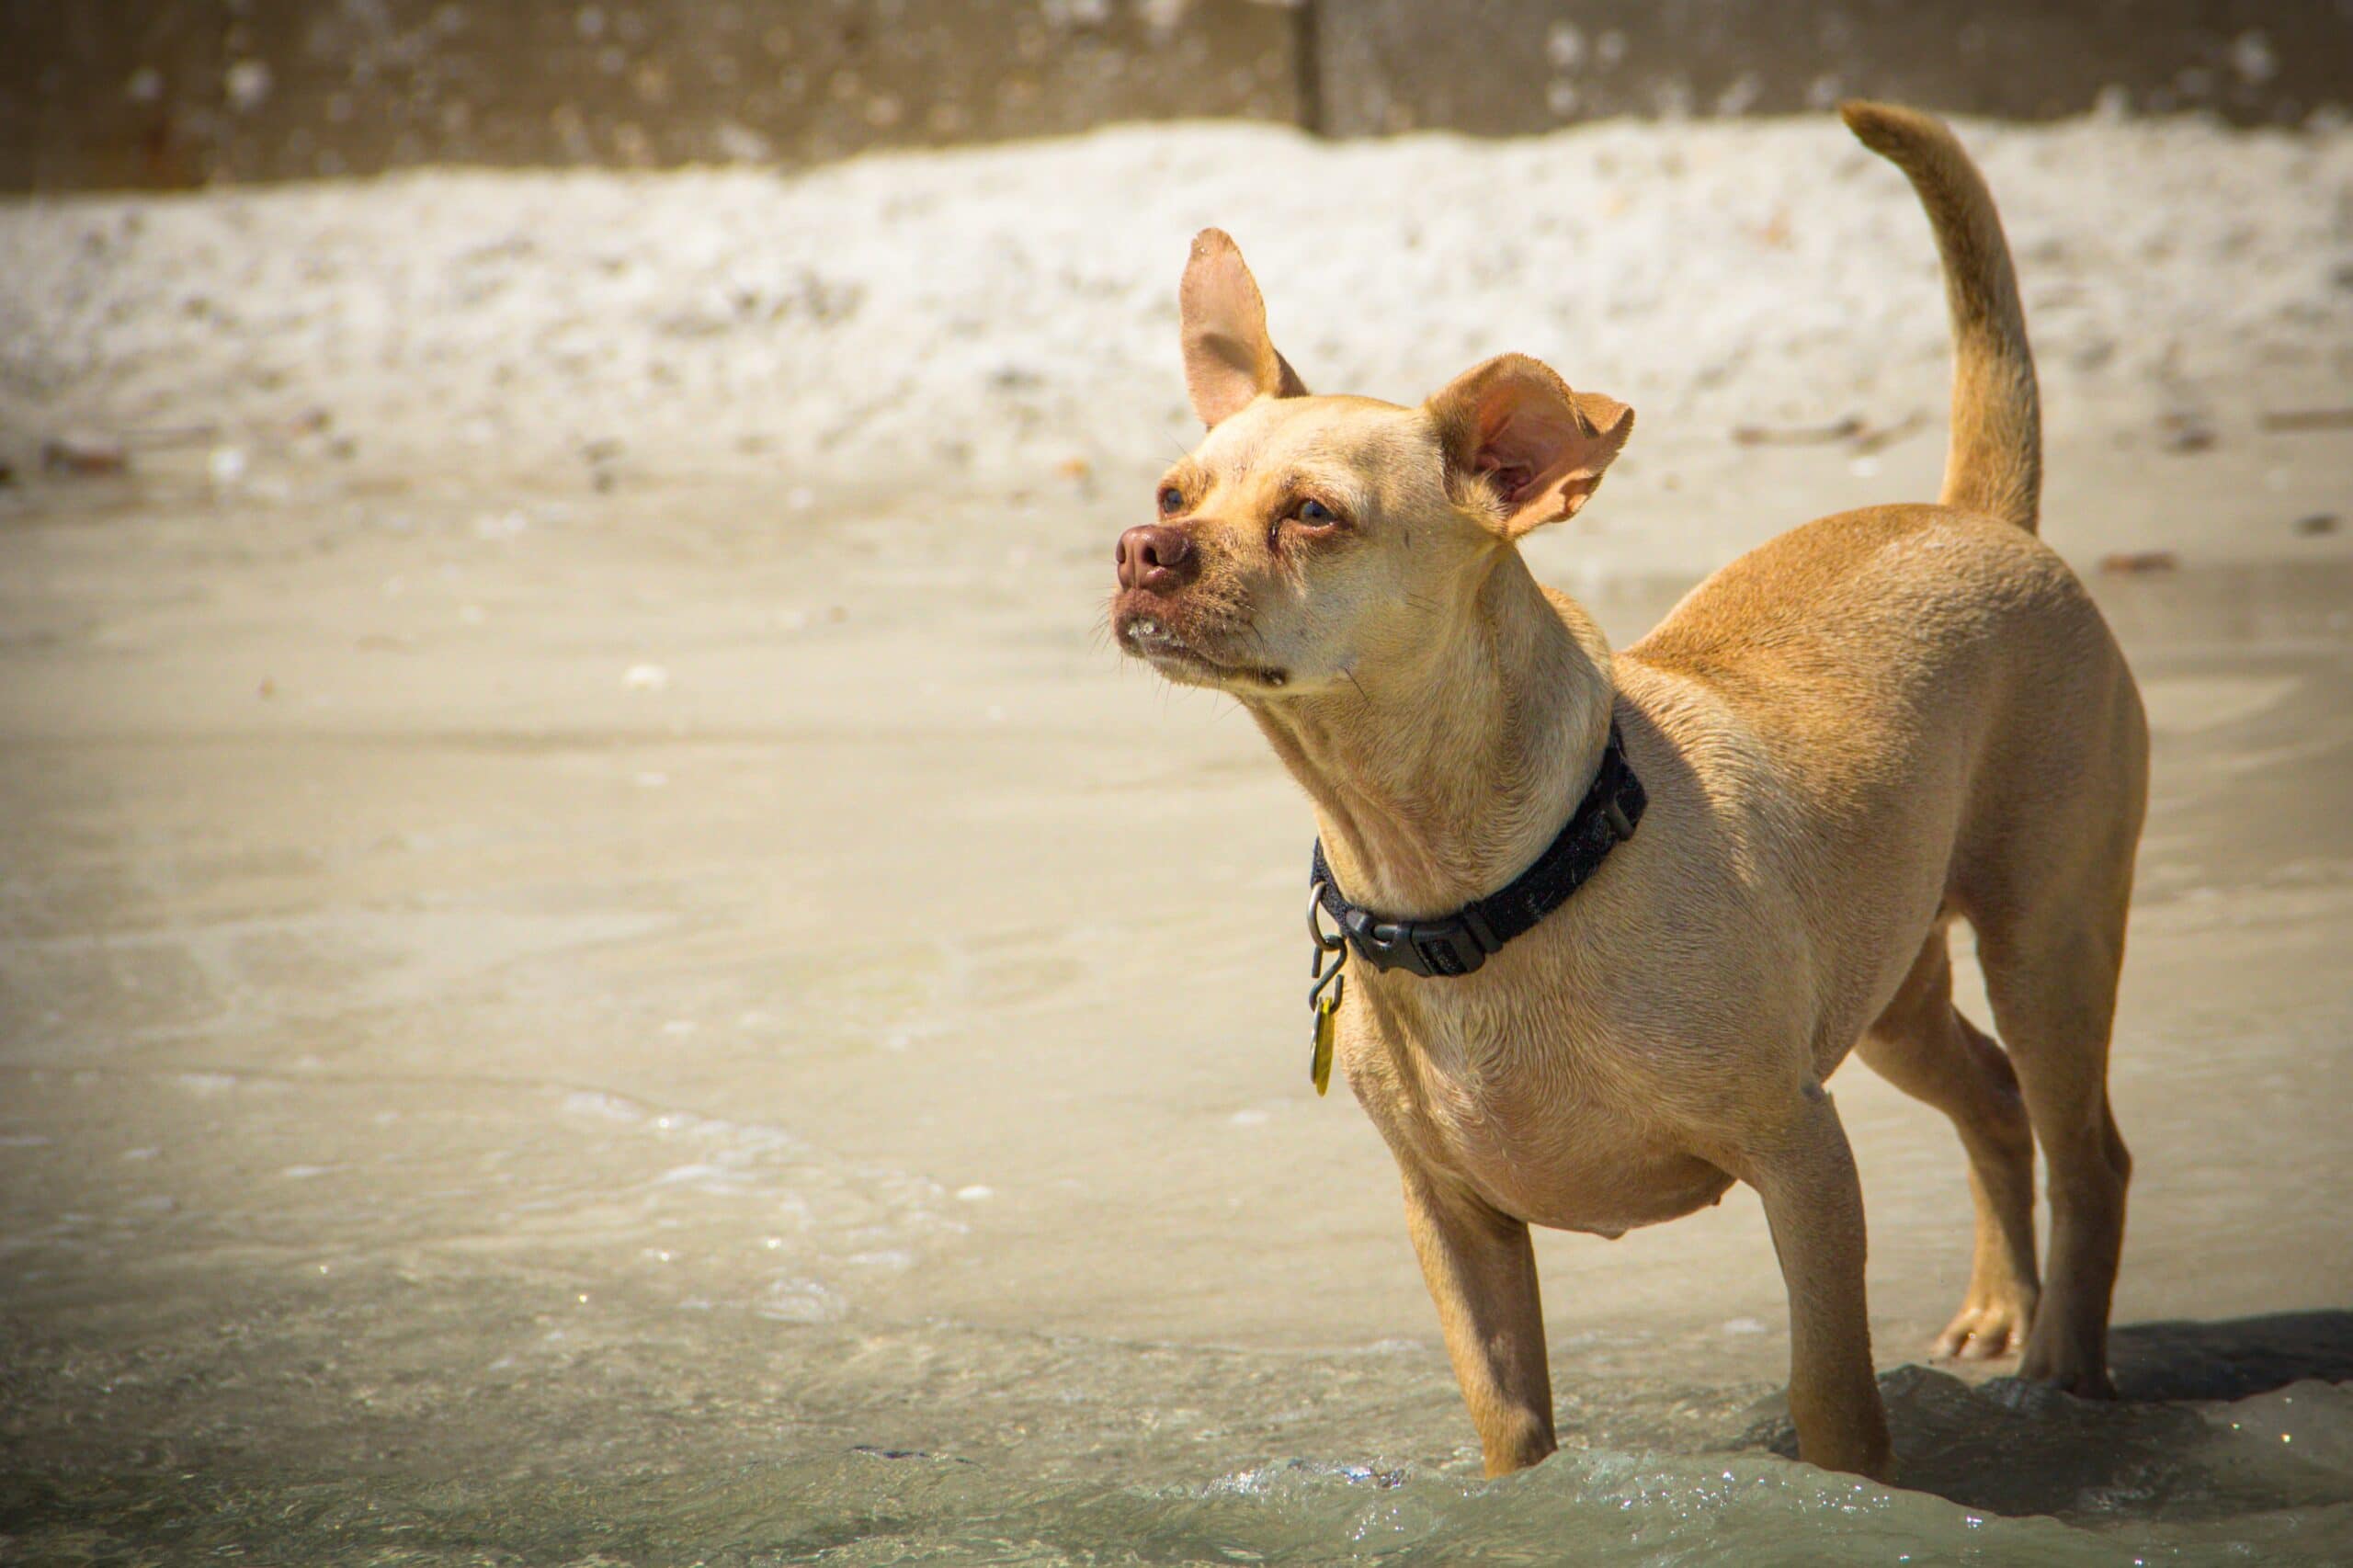
[[[1372,968],[1424,977],[1468,975],[1487,963],[1487,954],[1504,951],[1506,942],[1534,930],[1544,916],[1567,904],[1569,895],[1609,857],[1609,850],[1633,838],[1633,824],[1642,819],[1645,805],[1642,779],[1633,777],[1633,768],[1626,765],[1626,744],[1619,739],[1617,720],[1609,720],[1609,744],[1602,749],[1593,789],[1569,812],[1560,836],[1546,845],[1544,855],[1499,892],[1433,921],[1393,921],[1339,895],[1320,838],[1315,841],[1311,888],[1315,902],[1332,913],[1348,944]]]

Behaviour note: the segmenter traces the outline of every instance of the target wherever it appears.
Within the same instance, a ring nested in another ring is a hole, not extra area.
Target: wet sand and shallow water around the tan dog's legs
[[[1304,810],[1089,650],[1094,534],[414,509],[0,539],[0,1556],[2353,1559],[2344,565],[2097,582],[2127,1401],[1906,1366],[1962,1165],[1849,1069],[1906,1488],[1784,1457],[1746,1194],[1544,1238],[1567,1453],[1485,1483],[1306,1085]]]

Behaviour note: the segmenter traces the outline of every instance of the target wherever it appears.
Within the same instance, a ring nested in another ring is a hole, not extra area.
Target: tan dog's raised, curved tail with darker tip
[[[2035,532],[2042,398],[2019,278],[2009,271],[2009,242],[1986,177],[1934,115],[1864,101],[1842,104],[1838,113],[1864,146],[1913,181],[1944,254],[1944,297],[1953,311],[1953,443],[1939,499]]]

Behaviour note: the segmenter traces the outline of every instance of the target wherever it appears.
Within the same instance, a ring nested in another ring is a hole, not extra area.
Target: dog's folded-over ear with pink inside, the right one
[[[1574,516],[1633,433],[1631,407],[1569,391],[1551,365],[1525,353],[1499,353],[1466,370],[1428,410],[1447,464],[1487,476],[1511,539]]]

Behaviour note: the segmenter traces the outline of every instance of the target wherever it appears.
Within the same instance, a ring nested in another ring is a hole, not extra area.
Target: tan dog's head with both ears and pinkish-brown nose
[[[1315,695],[1435,652],[1501,551],[1572,516],[1633,410],[1506,353],[1421,407],[1315,398],[1266,334],[1217,228],[1184,273],[1184,372],[1202,443],[1120,534],[1120,647],[1169,680]]]

